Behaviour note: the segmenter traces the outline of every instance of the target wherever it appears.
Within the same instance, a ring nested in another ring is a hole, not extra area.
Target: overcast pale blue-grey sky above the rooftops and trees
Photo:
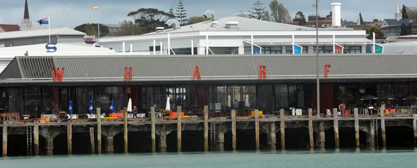
[[[215,10],[219,17],[229,17],[240,10],[248,12],[255,0],[183,0],[188,17],[202,16],[206,10]],[[261,0],[268,7],[270,0]],[[342,3],[342,19],[357,21],[359,10],[365,21],[376,19],[393,19],[396,0],[320,0],[319,13],[327,15],[332,11],[330,3]],[[400,0],[400,8],[417,6],[416,0]],[[308,16],[315,14],[312,8],[315,0],[281,0],[293,18],[297,11]],[[50,17],[51,28],[74,28],[87,22],[97,23],[97,10],[88,10],[98,6],[101,24],[118,24],[131,11],[138,8],[158,8],[168,11],[177,8],[178,0],[28,0],[29,15],[32,24],[38,19]],[[269,8],[269,7],[268,7]],[[268,9],[267,8],[267,9]],[[24,14],[24,0],[1,0],[0,24],[20,24]]]

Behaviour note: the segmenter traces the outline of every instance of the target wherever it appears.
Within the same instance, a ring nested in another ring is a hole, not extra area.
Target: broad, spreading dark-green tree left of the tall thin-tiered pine
[[[168,28],[165,21],[173,17],[169,13],[155,8],[140,8],[129,12],[127,16],[131,17],[144,33],[154,32],[157,27]]]

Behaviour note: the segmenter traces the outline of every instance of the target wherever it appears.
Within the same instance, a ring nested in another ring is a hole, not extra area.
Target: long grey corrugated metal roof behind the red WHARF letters
[[[267,80],[313,80],[316,55],[172,55],[17,57],[23,78],[52,80],[51,67],[65,68],[64,81],[123,81],[124,67],[133,81],[190,81],[195,66],[202,80],[258,80],[266,66]],[[53,63],[51,63],[53,61]],[[320,73],[329,64],[329,80],[417,77],[417,55],[320,55]],[[6,70],[5,70],[6,72]],[[0,75],[2,79],[3,73]],[[30,80],[30,79],[22,79]]]

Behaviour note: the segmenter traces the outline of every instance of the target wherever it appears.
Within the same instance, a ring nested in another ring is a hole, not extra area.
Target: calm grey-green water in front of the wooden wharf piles
[[[157,153],[85,156],[38,156],[0,158],[0,167],[416,167],[417,149],[238,151],[224,153]]]

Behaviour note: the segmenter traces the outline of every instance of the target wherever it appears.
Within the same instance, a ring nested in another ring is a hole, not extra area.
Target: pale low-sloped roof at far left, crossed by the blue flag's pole
[[[14,32],[0,32],[0,39],[17,39],[25,37],[40,37],[48,36],[49,29],[39,30],[25,30]],[[71,28],[51,28],[51,35],[86,35],[84,32],[79,32]]]

